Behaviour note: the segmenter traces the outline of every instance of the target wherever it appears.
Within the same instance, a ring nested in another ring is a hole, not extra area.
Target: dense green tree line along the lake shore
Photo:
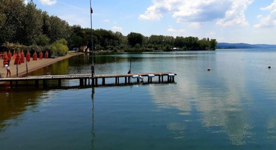
[[[1,50],[49,51],[64,55],[69,49],[91,49],[91,29],[69,25],[58,16],[36,7],[33,0],[0,0]],[[151,35],[93,29],[93,49],[123,51],[215,50],[216,39],[183,36]]]

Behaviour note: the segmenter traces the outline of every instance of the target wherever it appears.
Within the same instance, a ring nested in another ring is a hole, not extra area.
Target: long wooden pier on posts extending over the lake
[[[15,83],[16,86],[18,86],[19,81],[26,81],[28,85],[28,81],[35,81],[35,85],[39,86],[39,84],[42,81],[43,86],[47,85],[47,80],[58,80],[58,86],[61,86],[61,81],[64,79],[79,79],[80,86],[98,86],[98,85],[105,85],[105,79],[106,78],[114,78],[115,84],[130,84],[131,83],[131,77],[133,75],[140,75],[143,76],[144,80],[148,79],[148,83],[152,82],[153,77],[149,77],[150,74],[154,74],[155,78],[158,78],[158,81],[160,83],[163,83],[165,81],[167,82],[174,82],[176,73],[171,72],[153,72],[153,73],[131,73],[131,74],[69,74],[69,75],[41,75],[41,76],[24,76],[24,77],[4,77],[0,78],[0,82],[10,82],[10,86],[12,87]],[[170,76],[169,74],[174,74],[173,76]],[[167,77],[167,79],[164,79],[164,76]],[[99,79],[101,79],[101,84],[98,82]],[[121,80],[122,79],[122,80]],[[140,78],[134,78],[137,80],[137,83],[140,83]],[[121,82],[120,82],[121,80]]]

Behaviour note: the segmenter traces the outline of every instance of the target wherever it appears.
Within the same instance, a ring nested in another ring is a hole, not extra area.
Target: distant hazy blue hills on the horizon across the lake
[[[217,43],[217,48],[276,48],[276,45],[219,42]]]

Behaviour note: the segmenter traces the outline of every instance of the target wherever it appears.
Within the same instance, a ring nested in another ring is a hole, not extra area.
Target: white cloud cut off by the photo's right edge
[[[254,27],[276,27],[276,0],[274,0],[270,5],[262,7],[260,9],[268,10],[270,11],[270,13],[266,16],[258,15],[257,18],[260,19],[260,22],[258,24],[254,24]]]

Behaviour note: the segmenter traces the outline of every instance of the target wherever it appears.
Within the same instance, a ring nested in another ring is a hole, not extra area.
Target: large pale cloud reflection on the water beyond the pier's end
[[[155,97],[154,102],[162,108],[175,107],[181,111],[179,114],[184,115],[190,115],[192,108],[195,108],[199,111],[203,126],[208,130],[212,126],[222,126],[232,144],[245,144],[252,135],[249,131],[252,126],[248,123],[248,114],[241,102],[242,99],[250,99],[246,94],[244,74],[236,72],[233,75],[233,72],[229,73],[223,68],[216,69],[217,72],[214,70],[212,73],[222,77],[213,82],[219,86],[201,81],[201,75],[190,76],[179,72],[177,78],[181,79],[176,80],[177,84],[150,87]],[[210,132],[221,130],[212,129]]]

